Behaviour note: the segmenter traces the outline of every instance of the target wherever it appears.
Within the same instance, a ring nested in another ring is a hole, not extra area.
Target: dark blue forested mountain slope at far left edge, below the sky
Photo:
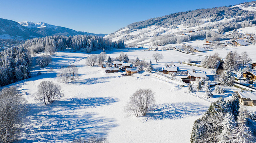
[[[42,35],[21,26],[18,22],[0,18],[0,38],[28,39],[34,37],[42,37]]]

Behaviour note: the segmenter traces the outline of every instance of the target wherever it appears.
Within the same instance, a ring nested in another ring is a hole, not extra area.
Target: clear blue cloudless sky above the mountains
[[[0,0],[0,18],[110,34],[130,23],[245,0]]]

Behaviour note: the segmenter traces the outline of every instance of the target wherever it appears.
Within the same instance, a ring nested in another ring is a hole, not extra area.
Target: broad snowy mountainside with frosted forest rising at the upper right
[[[131,23],[106,37],[114,41],[124,39],[130,47],[174,44],[196,39],[226,40],[234,37],[234,34],[231,35],[234,29],[256,26],[255,6],[256,1],[253,1],[229,7],[173,13]]]

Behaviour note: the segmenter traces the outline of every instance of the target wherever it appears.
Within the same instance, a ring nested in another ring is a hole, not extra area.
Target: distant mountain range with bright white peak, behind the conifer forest
[[[50,25],[48,23],[44,22],[18,22],[20,25],[27,27],[28,29],[31,29],[32,31],[43,35],[43,36],[53,36],[53,35],[63,35],[63,36],[71,36],[71,35],[97,35],[97,36],[105,36],[106,34],[94,34],[94,33],[88,33],[88,32],[79,32],[75,31],[73,29]]]

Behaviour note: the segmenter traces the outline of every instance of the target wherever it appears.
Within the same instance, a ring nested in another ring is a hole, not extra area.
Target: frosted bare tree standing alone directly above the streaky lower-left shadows
[[[42,81],[37,86],[37,93],[34,95],[35,100],[43,101],[45,106],[52,105],[56,100],[64,96],[59,84],[54,84],[52,81]]]

